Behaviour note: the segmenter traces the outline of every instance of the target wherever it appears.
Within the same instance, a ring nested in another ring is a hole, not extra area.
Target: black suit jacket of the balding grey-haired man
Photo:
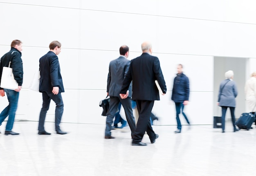
[[[166,93],[166,85],[159,59],[148,53],[142,53],[141,56],[131,60],[120,93],[125,94],[132,81],[133,100],[160,100],[155,80],[158,81],[163,93]]]

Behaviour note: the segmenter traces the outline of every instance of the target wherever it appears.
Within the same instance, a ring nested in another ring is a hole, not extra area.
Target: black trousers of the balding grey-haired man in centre
[[[135,100],[137,104],[137,109],[139,112],[139,119],[136,125],[136,129],[134,132],[134,137],[132,139],[133,142],[140,142],[147,132],[150,140],[155,139],[155,132],[150,123],[150,115],[152,108],[154,106],[154,101],[148,100]]]

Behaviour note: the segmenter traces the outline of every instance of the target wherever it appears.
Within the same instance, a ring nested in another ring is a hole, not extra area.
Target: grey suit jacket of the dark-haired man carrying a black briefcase
[[[120,90],[124,81],[124,77],[128,72],[130,66],[130,60],[123,56],[112,60],[109,64],[107,92],[110,97],[120,97]],[[129,95],[131,97],[132,91],[131,85],[128,85]]]

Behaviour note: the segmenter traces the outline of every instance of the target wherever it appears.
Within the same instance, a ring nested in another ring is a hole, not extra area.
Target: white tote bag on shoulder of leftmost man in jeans
[[[15,90],[18,88],[18,83],[14,79],[10,64],[11,62],[9,62],[9,67],[3,67],[0,87]]]

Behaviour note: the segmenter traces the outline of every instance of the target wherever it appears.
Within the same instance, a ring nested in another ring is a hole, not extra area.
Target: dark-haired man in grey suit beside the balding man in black
[[[115,137],[111,136],[111,125],[113,123],[113,118],[117,112],[118,104],[121,104],[124,107],[126,114],[127,122],[131,129],[131,135],[135,132],[135,119],[132,114],[132,91],[131,85],[127,90],[127,99],[121,99],[119,93],[124,81],[124,77],[128,72],[130,66],[130,60],[127,59],[129,56],[129,47],[124,45],[119,48],[120,57],[112,60],[109,64],[108,72],[108,84],[107,84],[107,95],[110,96],[109,110],[106,119],[106,130],[105,130],[105,139],[114,139]]]

